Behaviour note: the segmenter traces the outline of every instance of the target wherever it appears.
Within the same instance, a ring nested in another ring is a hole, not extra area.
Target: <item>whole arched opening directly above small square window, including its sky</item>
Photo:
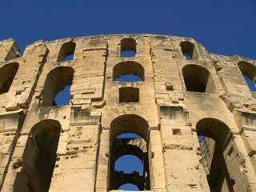
[[[143,80],[144,67],[138,62],[120,62],[113,68],[113,81],[138,82]]]

